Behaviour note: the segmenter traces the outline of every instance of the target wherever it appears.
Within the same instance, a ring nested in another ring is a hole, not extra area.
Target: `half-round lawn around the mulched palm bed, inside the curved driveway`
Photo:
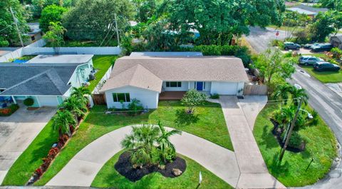
[[[202,172],[202,184],[199,188],[232,188],[231,185],[227,184],[221,178],[211,173],[206,168],[199,165],[195,160],[187,158],[183,155],[180,157],[184,158],[187,162],[187,169],[185,172],[177,178],[165,178],[160,173],[151,173],[145,175],[141,180],[135,183],[131,182],[123,175],[120,175],[114,165],[118,161],[120,154],[117,153],[110,158],[101,170],[96,175],[92,187],[95,188],[196,188],[198,183],[199,171]]]

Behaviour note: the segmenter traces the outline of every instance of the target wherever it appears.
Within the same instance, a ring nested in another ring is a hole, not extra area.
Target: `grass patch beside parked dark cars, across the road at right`
[[[342,82],[342,71],[314,71],[312,66],[301,66],[307,71],[311,76],[322,83],[340,83]]]

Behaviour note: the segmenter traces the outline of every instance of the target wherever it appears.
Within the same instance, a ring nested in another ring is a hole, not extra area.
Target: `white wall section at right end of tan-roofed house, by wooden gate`
[[[219,95],[239,95],[238,91],[242,87],[244,87],[244,83],[240,82],[217,82],[213,81],[211,86],[210,93],[218,93]],[[242,93],[242,92],[240,92]]]

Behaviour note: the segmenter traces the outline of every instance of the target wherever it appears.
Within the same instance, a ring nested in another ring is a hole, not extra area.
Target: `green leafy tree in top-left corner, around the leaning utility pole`
[[[19,36],[14,25],[14,20],[9,8],[12,8],[16,16],[19,31],[22,38],[28,31],[25,17],[23,15],[24,9],[18,0],[1,0],[0,1],[0,46],[16,46],[19,44]]]

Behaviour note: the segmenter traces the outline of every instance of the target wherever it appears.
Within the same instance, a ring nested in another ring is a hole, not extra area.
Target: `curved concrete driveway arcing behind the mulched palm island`
[[[96,139],[78,152],[46,185],[90,186],[100,168],[122,150],[120,141],[131,130],[131,126],[126,126]],[[181,136],[170,139],[177,153],[197,161],[229,185],[237,186],[240,171],[234,152],[184,131]]]

